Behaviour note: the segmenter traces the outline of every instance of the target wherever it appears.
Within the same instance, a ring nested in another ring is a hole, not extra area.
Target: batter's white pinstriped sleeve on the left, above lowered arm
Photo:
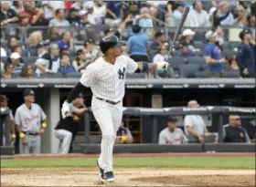
[[[91,87],[93,79],[96,77],[96,69],[91,65],[83,71],[80,78],[80,83],[85,87]]]

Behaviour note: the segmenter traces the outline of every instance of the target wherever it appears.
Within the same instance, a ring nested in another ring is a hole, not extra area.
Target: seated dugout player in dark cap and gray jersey
[[[175,116],[168,117],[167,127],[160,132],[158,144],[180,145],[187,143],[187,137],[184,132],[181,129],[176,128],[176,121],[177,119]]]

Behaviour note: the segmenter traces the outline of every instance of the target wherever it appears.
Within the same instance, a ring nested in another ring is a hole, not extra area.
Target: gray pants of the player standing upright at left
[[[25,138],[28,140],[26,144],[20,140],[20,153],[21,154],[40,154],[41,153],[41,136],[37,135],[26,135]]]

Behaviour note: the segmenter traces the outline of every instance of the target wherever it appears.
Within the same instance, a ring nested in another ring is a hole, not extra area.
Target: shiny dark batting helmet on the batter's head
[[[112,47],[121,47],[124,46],[125,43],[123,41],[120,41],[117,36],[105,36],[101,39],[100,47],[101,52],[105,54],[109,49]]]

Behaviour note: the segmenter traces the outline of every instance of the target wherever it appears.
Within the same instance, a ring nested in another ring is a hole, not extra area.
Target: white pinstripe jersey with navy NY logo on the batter
[[[85,69],[80,83],[90,87],[94,97],[118,102],[124,97],[125,74],[137,68],[138,64],[130,57],[116,57],[113,65],[99,57]]]

